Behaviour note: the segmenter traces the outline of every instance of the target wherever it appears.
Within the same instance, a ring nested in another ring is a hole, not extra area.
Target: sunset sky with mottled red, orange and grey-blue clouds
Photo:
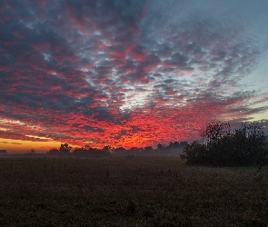
[[[2,0],[0,150],[268,132],[267,0]]]

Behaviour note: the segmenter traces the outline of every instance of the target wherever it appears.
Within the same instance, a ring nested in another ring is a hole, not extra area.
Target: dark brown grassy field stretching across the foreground
[[[268,169],[0,157],[0,226],[266,226]]]

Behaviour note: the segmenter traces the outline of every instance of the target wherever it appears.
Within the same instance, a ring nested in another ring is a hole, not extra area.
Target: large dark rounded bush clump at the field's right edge
[[[257,122],[243,123],[234,131],[229,123],[209,123],[202,140],[188,143],[181,158],[187,164],[208,166],[267,165],[267,136]]]

